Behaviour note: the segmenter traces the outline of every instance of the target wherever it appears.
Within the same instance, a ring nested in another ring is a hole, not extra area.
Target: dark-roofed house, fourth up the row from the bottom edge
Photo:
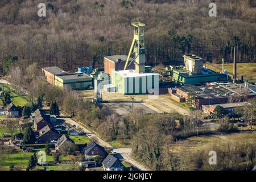
[[[52,131],[49,126],[43,127],[43,129],[39,130],[39,137],[38,141],[43,143],[49,143],[52,140],[58,140],[60,135],[57,134],[55,131]]]

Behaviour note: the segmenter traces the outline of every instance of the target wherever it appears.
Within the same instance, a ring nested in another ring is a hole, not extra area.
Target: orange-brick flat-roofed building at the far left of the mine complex
[[[60,69],[59,67],[45,67],[42,68],[42,72],[47,77],[47,81],[51,84],[55,84],[55,76],[68,75],[68,72]]]

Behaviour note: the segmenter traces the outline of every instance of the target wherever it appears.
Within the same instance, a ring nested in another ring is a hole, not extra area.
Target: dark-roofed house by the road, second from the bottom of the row
[[[92,142],[84,148],[84,155],[86,159],[93,159],[96,156],[101,156],[101,158],[106,157],[105,148],[99,144]]]

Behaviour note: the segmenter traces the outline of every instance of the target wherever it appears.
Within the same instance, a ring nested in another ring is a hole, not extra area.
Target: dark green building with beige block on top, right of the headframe
[[[203,85],[213,81],[231,81],[228,74],[216,73],[203,67],[204,59],[196,55],[184,55],[185,68],[173,69],[172,77],[183,85]]]

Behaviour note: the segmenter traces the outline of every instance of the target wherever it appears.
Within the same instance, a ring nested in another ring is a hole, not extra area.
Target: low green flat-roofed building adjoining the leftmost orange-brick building
[[[92,86],[92,77],[85,74],[56,76],[55,85],[62,88],[66,85],[74,90],[88,89]]]

